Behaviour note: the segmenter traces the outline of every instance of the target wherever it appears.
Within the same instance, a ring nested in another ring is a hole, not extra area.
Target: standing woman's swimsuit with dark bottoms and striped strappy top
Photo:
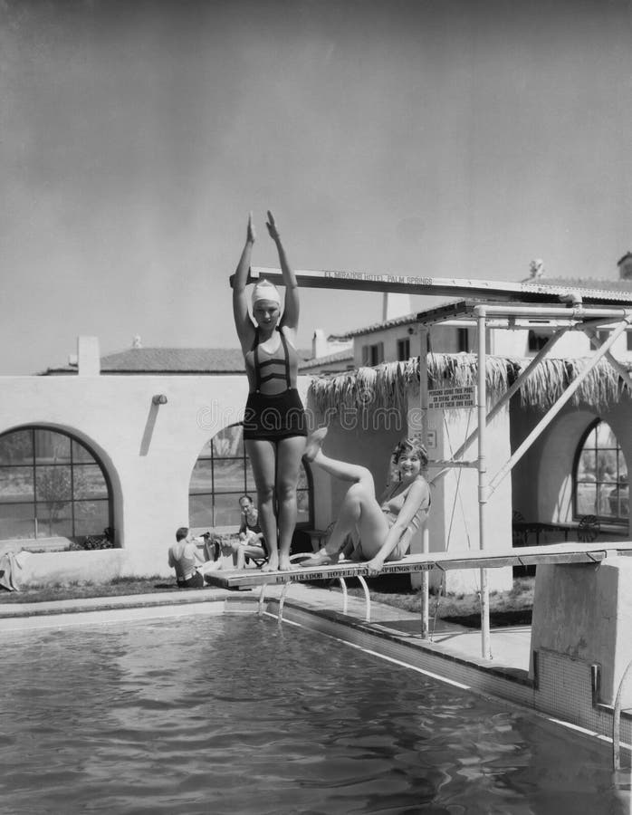
[[[253,347],[245,357],[251,390],[244,411],[244,439],[278,441],[291,436],[307,436],[305,410],[296,389],[298,354],[281,336],[282,359],[259,347],[259,329]],[[277,353],[277,351],[274,351]],[[285,389],[274,389],[274,379],[284,379]],[[293,379],[293,381],[292,381]],[[266,392],[267,391],[267,392]]]

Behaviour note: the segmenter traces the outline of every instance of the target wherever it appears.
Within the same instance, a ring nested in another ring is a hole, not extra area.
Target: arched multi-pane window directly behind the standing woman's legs
[[[231,526],[239,523],[239,497],[250,494],[256,503],[256,488],[245,453],[241,425],[230,425],[206,442],[197,458],[188,489],[188,523],[196,528]],[[311,485],[301,466],[297,491],[297,527],[311,525]]]

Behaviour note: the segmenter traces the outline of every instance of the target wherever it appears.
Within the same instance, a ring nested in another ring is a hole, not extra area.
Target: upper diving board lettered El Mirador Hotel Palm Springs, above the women
[[[577,293],[581,302],[601,305],[632,305],[632,291],[621,292],[582,285],[548,285],[546,283],[512,283],[458,277],[416,277],[409,274],[372,274],[368,272],[294,270],[301,288],[349,289],[365,292],[401,292],[434,297],[478,298],[501,302],[557,302]],[[248,283],[261,278],[283,285],[281,269],[251,266]],[[231,275],[233,285],[235,275]]]

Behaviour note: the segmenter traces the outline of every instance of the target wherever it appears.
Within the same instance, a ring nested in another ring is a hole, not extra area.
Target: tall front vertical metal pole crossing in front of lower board
[[[484,306],[476,309],[478,316],[478,530],[479,548],[484,550],[487,523],[487,462],[485,442],[487,436],[487,345]],[[489,634],[489,589],[487,570],[481,569],[481,654],[492,658]]]

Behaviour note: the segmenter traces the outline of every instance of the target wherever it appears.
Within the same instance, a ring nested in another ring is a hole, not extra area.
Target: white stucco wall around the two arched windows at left
[[[299,378],[303,399],[309,382]],[[153,405],[156,394],[168,403]],[[125,552],[110,555],[119,573],[167,575],[168,545],[177,527],[188,525],[197,456],[209,438],[243,417],[247,382],[244,376],[6,377],[0,395],[0,433],[24,425],[62,429],[99,455],[110,476],[116,543]],[[29,561],[39,569],[38,562],[55,557],[34,554]]]

